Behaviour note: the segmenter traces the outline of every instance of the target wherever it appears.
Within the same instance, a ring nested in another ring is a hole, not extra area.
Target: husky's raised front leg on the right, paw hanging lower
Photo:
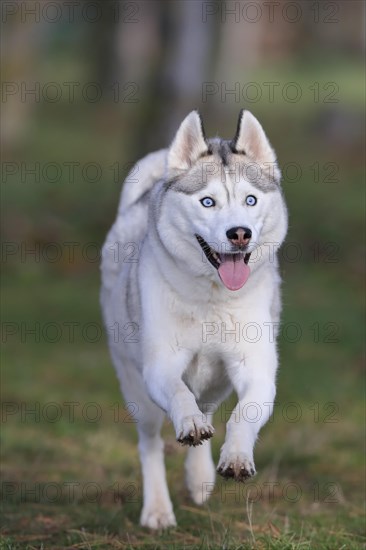
[[[236,481],[245,481],[256,473],[253,448],[259,430],[272,414],[276,393],[275,344],[255,345],[255,352],[246,350],[242,361],[228,367],[238,403],[226,425],[217,471]]]

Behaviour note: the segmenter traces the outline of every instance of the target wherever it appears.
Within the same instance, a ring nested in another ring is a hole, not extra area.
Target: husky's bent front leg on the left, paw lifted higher
[[[144,366],[144,380],[151,399],[173,422],[177,440],[183,445],[201,445],[212,437],[214,428],[197,406],[193,393],[182,376],[192,354],[185,350],[172,353],[160,348]]]

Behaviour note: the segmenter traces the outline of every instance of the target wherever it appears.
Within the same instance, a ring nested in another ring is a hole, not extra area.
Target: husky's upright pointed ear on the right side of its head
[[[275,163],[276,154],[255,116],[242,109],[239,114],[233,145],[238,153],[251,157],[258,164]]]

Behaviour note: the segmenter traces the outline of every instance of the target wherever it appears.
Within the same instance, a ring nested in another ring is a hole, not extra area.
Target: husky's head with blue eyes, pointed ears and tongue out
[[[282,243],[287,213],[275,153],[258,120],[242,110],[232,140],[206,139],[192,111],[167,155],[159,233],[194,274],[219,275],[230,290]]]

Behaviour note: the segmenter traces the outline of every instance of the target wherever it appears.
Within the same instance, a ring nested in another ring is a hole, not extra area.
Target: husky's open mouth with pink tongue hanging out
[[[221,281],[229,290],[239,290],[248,280],[250,267],[248,266],[250,252],[235,252],[233,254],[218,253],[196,233],[208,261],[217,269]]]

